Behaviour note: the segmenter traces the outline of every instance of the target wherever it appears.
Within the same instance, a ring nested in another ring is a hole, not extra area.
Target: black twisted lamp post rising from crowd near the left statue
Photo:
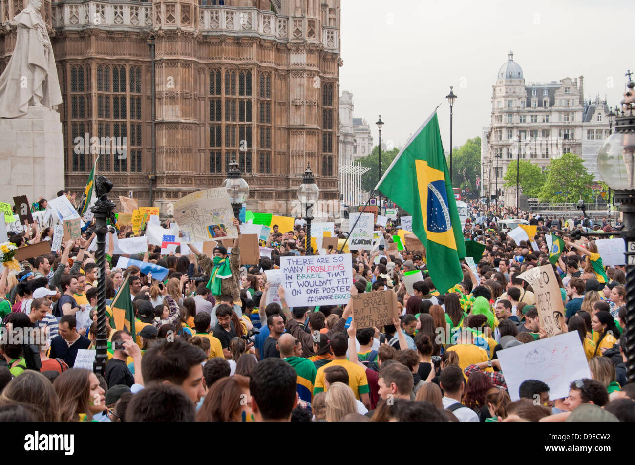
[[[108,361],[108,334],[106,332],[106,233],[108,226],[106,220],[110,219],[112,224],[116,222],[112,214],[115,204],[108,199],[110,189],[112,189],[112,182],[102,175],[95,176],[97,201],[91,208],[91,212],[95,215],[95,234],[97,234],[95,262],[99,274],[97,275],[97,356],[93,372],[102,376]]]

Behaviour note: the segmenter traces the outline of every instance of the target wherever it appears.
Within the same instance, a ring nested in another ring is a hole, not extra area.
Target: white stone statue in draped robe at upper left
[[[55,109],[62,92],[55,68],[53,48],[40,15],[42,0],[29,0],[18,13],[15,50],[0,76],[0,118],[27,114],[29,105]]]

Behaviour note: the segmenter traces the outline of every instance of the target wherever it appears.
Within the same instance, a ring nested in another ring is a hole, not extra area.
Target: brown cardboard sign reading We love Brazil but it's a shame
[[[397,294],[391,290],[364,292],[352,296],[356,329],[381,328],[399,318]]]

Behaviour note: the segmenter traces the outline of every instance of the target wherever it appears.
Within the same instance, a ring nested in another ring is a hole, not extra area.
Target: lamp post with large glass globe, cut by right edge
[[[626,243],[626,321],[620,338],[627,357],[627,379],[635,382],[635,98],[631,72],[622,111],[615,118],[615,133],[610,135],[598,152],[599,174],[613,189],[613,198],[621,202],[624,227],[620,235]],[[615,233],[613,233],[615,234]]]

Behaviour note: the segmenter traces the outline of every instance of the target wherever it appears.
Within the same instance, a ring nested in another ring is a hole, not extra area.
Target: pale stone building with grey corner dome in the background
[[[584,100],[583,76],[527,83],[510,50],[492,86],[491,123],[481,137],[481,196],[516,206],[516,186],[505,189],[503,180],[511,161],[528,159],[544,172],[565,153],[591,153],[592,141],[608,137],[608,120],[598,112],[607,114],[608,105]],[[591,158],[585,165],[595,171]]]

